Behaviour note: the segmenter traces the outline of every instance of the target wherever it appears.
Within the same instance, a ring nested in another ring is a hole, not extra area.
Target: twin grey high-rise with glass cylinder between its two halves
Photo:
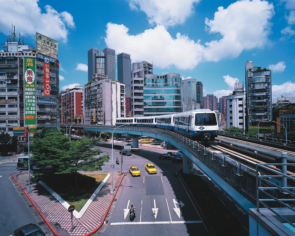
[[[108,79],[116,80],[115,53],[111,48],[88,50],[88,81],[93,80],[94,74],[104,74]]]

